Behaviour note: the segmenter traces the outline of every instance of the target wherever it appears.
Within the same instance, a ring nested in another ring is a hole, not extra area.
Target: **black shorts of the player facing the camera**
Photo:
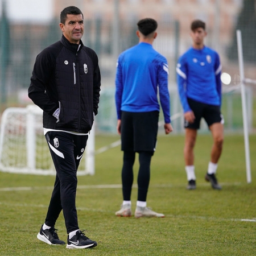
[[[220,106],[204,104],[188,98],[188,104],[195,114],[195,122],[184,121],[184,128],[200,129],[200,121],[203,117],[208,127],[213,123],[224,123],[224,118],[220,112]]]

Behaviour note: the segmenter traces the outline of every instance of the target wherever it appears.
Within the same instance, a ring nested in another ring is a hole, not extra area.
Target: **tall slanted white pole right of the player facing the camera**
[[[244,74],[244,68],[243,68],[242,36],[241,36],[241,31],[240,30],[237,30],[237,50],[238,50],[240,81],[241,81],[242,114],[243,114],[243,138],[245,140],[246,178],[247,178],[247,183],[251,183],[248,118],[247,118],[246,97],[245,97],[245,74]]]

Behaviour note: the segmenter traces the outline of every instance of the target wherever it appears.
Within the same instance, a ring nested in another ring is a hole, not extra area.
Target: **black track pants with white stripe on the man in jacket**
[[[46,225],[55,226],[61,210],[67,233],[79,229],[76,211],[77,168],[84,154],[88,135],[48,131],[46,141],[56,169],[56,180],[46,216]]]

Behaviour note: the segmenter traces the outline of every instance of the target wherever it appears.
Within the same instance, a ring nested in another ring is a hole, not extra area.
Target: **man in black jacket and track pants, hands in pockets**
[[[55,223],[63,210],[67,248],[97,246],[79,229],[76,211],[77,168],[94,115],[98,113],[101,75],[96,53],[82,44],[84,16],[75,6],[60,14],[63,36],[36,57],[28,96],[43,109],[43,127],[56,169],[46,220],[38,239],[64,245]]]

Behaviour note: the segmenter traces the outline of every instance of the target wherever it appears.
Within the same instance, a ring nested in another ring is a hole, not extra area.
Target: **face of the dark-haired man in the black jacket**
[[[79,44],[84,34],[84,19],[82,18],[82,14],[68,14],[65,24],[60,23],[60,29],[70,43]]]

